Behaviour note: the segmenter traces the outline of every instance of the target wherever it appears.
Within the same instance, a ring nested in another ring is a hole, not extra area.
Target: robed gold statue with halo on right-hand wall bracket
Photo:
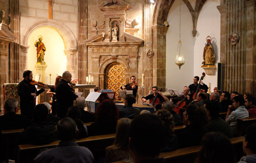
[[[210,38],[210,39],[207,39],[207,38]],[[204,59],[204,61],[202,62],[203,65],[215,64],[214,47],[212,47],[210,40],[211,40],[211,37],[207,36],[206,37],[207,44],[204,46],[204,52],[203,52],[203,59]]]

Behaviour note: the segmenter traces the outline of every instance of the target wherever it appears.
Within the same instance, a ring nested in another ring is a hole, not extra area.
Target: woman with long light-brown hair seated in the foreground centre
[[[129,149],[130,126],[132,120],[121,118],[117,122],[116,138],[112,146],[106,147],[105,162],[132,161]]]

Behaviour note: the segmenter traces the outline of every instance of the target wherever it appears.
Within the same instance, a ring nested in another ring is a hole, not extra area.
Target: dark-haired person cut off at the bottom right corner
[[[245,130],[245,140],[243,142],[243,156],[238,163],[256,162],[256,123],[251,124]]]

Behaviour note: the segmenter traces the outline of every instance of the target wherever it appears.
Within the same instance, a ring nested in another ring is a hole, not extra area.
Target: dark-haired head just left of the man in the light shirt
[[[206,101],[204,104],[208,115],[209,115],[209,119],[214,119],[214,118],[218,118],[219,117],[219,113],[220,113],[220,108],[221,105],[219,102],[217,101]]]

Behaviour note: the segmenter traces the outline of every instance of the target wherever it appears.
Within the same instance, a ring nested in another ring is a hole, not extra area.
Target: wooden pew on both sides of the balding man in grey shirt
[[[83,138],[76,140],[79,146],[89,148],[93,154],[104,152],[105,148],[112,145],[115,140],[116,134],[97,135],[93,137]],[[45,148],[54,148],[60,141],[55,141],[46,145],[19,145],[18,146],[18,162],[31,162],[39,153],[40,150]]]

